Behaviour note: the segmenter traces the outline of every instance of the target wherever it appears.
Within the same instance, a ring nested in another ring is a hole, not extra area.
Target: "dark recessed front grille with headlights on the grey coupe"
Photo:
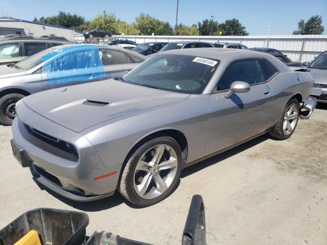
[[[18,127],[22,136],[41,150],[69,161],[78,161],[79,156],[74,145],[45,134],[21,121],[18,122]]]

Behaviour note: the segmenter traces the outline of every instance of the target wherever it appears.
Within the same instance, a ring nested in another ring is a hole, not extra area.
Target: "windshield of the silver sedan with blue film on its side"
[[[51,47],[16,63],[15,66],[20,69],[29,70],[48,60],[49,58],[58,55],[60,52],[62,52],[62,50],[60,50],[58,47]]]

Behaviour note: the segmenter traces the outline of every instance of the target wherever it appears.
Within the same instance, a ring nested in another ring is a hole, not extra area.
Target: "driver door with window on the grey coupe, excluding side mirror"
[[[261,132],[274,123],[273,91],[268,81],[277,73],[265,60],[246,59],[231,63],[210,96],[208,143],[206,154],[212,154]],[[250,91],[224,94],[235,81],[250,84]]]

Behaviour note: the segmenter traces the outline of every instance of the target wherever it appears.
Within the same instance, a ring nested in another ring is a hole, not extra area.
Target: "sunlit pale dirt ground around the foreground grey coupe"
[[[181,244],[193,194],[201,194],[208,244],[327,244],[327,106],[300,120],[293,136],[264,135],[184,169],[175,192],[148,208],[116,193],[75,203],[41,189],[0,126],[0,228],[21,213],[52,207],[87,212],[87,234],[106,230],[154,244]]]

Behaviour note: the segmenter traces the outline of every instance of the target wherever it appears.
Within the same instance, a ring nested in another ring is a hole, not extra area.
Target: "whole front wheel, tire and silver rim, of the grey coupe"
[[[118,184],[119,192],[137,206],[164,200],[176,186],[182,154],[171,137],[158,137],[141,145],[127,161]]]

